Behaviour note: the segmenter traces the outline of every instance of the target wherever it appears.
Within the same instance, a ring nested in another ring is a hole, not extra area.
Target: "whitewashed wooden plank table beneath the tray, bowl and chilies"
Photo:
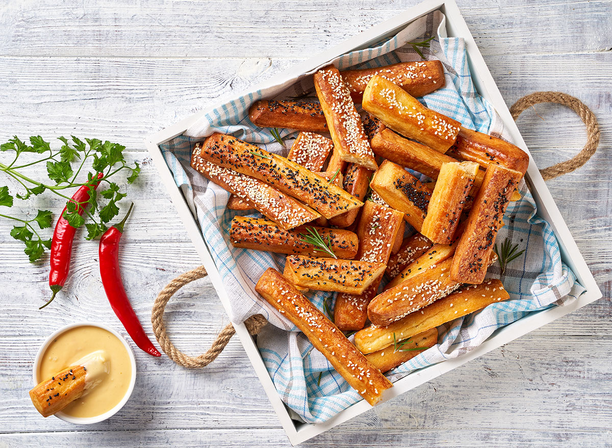
[[[73,133],[125,144],[129,160],[142,163],[129,189],[136,206],[121,265],[151,334],[158,291],[200,261],[143,137],[416,2],[4,2],[0,140]],[[558,90],[582,99],[599,118],[597,154],[548,184],[604,298],[305,445],[612,446],[612,2],[470,0],[460,7],[509,105],[529,92]],[[580,150],[584,127],[572,112],[554,105],[535,110],[521,116],[519,127],[539,166]],[[57,217],[63,205],[44,196],[18,212],[48,208]],[[39,311],[49,296],[48,259],[29,264],[11,227],[0,220],[0,446],[288,446],[236,341],[200,371],[136,350],[132,398],[101,424],[40,417],[28,390],[43,338],[82,320],[122,327],[102,291],[97,242],[78,241],[68,286]],[[177,294],[166,316],[171,337],[191,353],[228,323],[207,280]]]

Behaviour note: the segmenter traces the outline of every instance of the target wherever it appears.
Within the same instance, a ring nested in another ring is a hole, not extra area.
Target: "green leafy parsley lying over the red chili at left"
[[[31,136],[29,144],[13,136],[12,139],[0,145],[0,155],[12,154],[10,163],[0,162],[0,173],[4,173],[17,182],[24,192],[13,196],[8,186],[0,186],[0,206],[12,207],[15,199],[25,201],[32,195],[52,192],[67,201],[64,218],[69,224],[74,228],[85,225],[88,230],[86,239],[94,239],[105,232],[106,224],[119,214],[117,203],[125,198],[125,193],[121,192],[116,182],[110,181],[110,177],[116,178],[116,175],[123,171],[127,174],[127,183],[132,184],[140,173],[140,166],[137,162],[133,166],[129,165],[123,155],[125,146],[117,143],[110,141],[102,143],[96,138],[91,140],[86,138],[85,141],[82,141],[75,136],[70,136],[70,140],[61,136],[58,140],[62,143],[59,149],[51,148],[51,144],[43,140],[40,135]],[[39,157],[31,160],[31,157],[26,156],[28,162],[22,162],[21,157],[27,153],[39,155]],[[43,162],[45,162],[47,176],[51,182],[32,179],[24,174],[25,168]],[[92,171],[89,171],[84,178],[85,176],[81,173],[90,169]],[[103,177],[99,179],[100,182],[103,182],[100,187],[102,185],[106,187],[100,193],[97,193],[91,186],[98,173],[103,174]],[[82,203],[72,201],[70,194],[83,185],[90,185],[89,200]],[[99,201],[99,196],[105,199],[103,204],[102,201]],[[80,207],[88,205],[91,207],[85,210],[84,217],[78,214]],[[45,253],[45,249],[51,247],[51,238],[46,238],[40,232],[40,230],[51,227],[50,211],[39,210],[37,215],[31,219],[4,213],[0,213],[0,217],[20,223],[13,226],[10,236],[18,241],[23,241],[26,246],[24,252],[32,263]],[[89,220],[88,223],[86,223],[87,220]]]

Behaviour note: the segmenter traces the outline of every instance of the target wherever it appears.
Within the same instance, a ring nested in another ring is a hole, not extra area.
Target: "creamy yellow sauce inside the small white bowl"
[[[96,417],[110,411],[127,393],[132,379],[132,363],[127,349],[115,335],[100,327],[82,326],[66,330],[43,353],[37,381],[49,378],[64,368],[77,365],[97,353],[86,373],[88,387],[83,396],[66,406],[62,413],[73,417]],[[94,378],[95,376],[95,378]]]

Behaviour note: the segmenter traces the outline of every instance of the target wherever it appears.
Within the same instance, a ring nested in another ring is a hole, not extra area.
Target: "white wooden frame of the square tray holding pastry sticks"
[[[327,61],[340,56],[341,54],[348,53],[349,51],[356,50],[357,48],[367,47],[368,45],[378,42],[385,37],[390,37],[416,18],[422,17],[423,15],[438,9],[441,10],[444,15],[446,15],[446,30],[448,37],[463,37],[463,39],[465,39],[469,68],[472,73],[472,81],[474,81],[474,86],[476,87],[477,91],[494,106],[499,116],[501,116],[506,128],[510,132],[510,135],[512,135],[513,143],[529,152],[523,138],[520,135],[520,132],[518,132],[512,116],[510,116],[510,111],[508,110],[504,99],[493,81],[493,77],[491,77],[491,73],[485,64],[485,61],[482,59],[480,51],[476,47],[476,43],[469,32],[468,26],[459,12],[457,3],[454,0],[427,0],[422,2],[421,4],[406,10],[394,18],[384,21],[383,23],[374,26],[365,32],[362,32],[358,36],[348,39],[340,45],[323,51],[313,58],[296,65],[292,69],[289,69],[272,80],[267,81],[264,86],[259,86],[259,88],[263,89],[266,86],[274,86],[276,84],[283,83],[283,81],[315,69],[319,65],[322,65]],[[253,91],[255,90],[256,88],[253,88]],[[164,182],[166,189],[168,189],[168,193],[170,193],[171,200],[173,201],[179,216],[185,223],[187,233],[191,237],[193,244],[195,245],[196,250],[203,261],[204,267],[206,267],[206,271],[211,278],[211,282],[217,290],[219,299],[226,310],[229,310],[230,302],[225,289],[223,289],[221,277],[217,271],[217,268],[215,267],[214,262],[212,261],[211,254],[206,247],[206,243],[204,242],[204,237],[200,231],[200,228],[198,227],[198,223],[196,222],[195,218],[193,218],[185,198],[182,195],[181,189],[176,187],[173,174],[170,171],[170,168],[168,168],[168,165],[166,165],[162,152],[159,149],[160,144],[172,140],[176,136],[182,135],[185,130],[190,127],[190,125],[200,119],[206,112],[206,110],[200,111],[193,114],[193,116],[190,118],[184,119],[177,124],[171,125],[170,127],[155,133],[146,140],[146,145],[147,149],[149,149],[149,152],[151,153],[151,158],[154,160],[155,165],[157,166],[160,177]],[[531,156],[529,169],[526,173],[525,179],[531,186],[531,192],[538,207],[538,214],[545,218],[545,220],[547,220],[553,228],[554,234],[557,237],[559,247],[561,249],[562,260],[565,264],[567,264],[567,266],[570,267],[570,269],[572,269],[578,278],[578,282],[580,282],[580,284],[586,288],[586,292],[572,304],[564,307],[553,307],[540,312],[530,313],[528,316],[512,324],[498,329],[491,335],[491,337],[488,338],[487,341],[463,356],[449,359],[439,364],[431,365],[412,372],[410,375],[396,381],[394,383],[394,387],[389,389],[387,394],[384,395],[383,401],[403,394],[404,392],[417,387],[432,378],[436,378],[436,376],[442,375],[442,373],[452,370],[453,368],[456,368],[471,359],[485,354],[494,348],[498,348],[501,345],[504,345],[532,330],[550,323],[551,321],[554,321],[567,313],[571,313],[578,308],[584,307],[584,305],[594,302],[602,297],[602,293],[595,283],[595,279],[584,262],[584,259],[580,254],[578,247],[567,228],[567,225],[565,225],[565,222],[559,213],[559,209],[554,203],[553,198],[542,179],[542,176],[540,176],[540,172],[531,159]],[[242,345],[247,352],[247,356],[253,364],[253,368],[255,368],[259,381],[261,381],[261,384],[263,385],[264,390],[272,403],[272,407],[276,411],[291,444],[299,444],[300,442],[312,438],[313,436],[316,436],[323,431],[326,431],[335,425],[339,425],[342,422],[345,422],[346,420],[370,409],[370,405],[368,405],[366,401],[362,400],[355,405],[350,406],[348,409],[341,411],[341,413],[337,414],[337,416],[323,424],[304,424],[296,422],[296,420],[292,420],[289,416],[288,408],[286,408],[283,404],[282,400],[277,394],[274,384],[272,383],[272,379],[267,373],[263,359],[261,359],[259,351],[255,345],[255,340],[253,340],[253,338],[248,334],[244,324],[234,323],[234,327],[236,327],[236,334],[240,338]]]

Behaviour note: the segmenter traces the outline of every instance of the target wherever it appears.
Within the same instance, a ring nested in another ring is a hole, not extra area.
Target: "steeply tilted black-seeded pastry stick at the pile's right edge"
[[[501,165],[488,166],[453,256],[450,269],[453,280],[478,285],[485,279],[486,260],[493,250],[510,195],[521,177],[520,171]]]

